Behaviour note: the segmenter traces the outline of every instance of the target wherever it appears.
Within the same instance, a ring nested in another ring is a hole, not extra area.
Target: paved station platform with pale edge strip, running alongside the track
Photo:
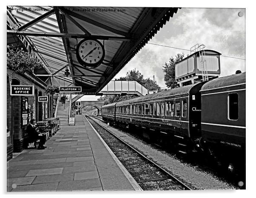
[[[141,190],[88,120],[75,119],[45,150],[14,153],[7,162],[7,192]]]

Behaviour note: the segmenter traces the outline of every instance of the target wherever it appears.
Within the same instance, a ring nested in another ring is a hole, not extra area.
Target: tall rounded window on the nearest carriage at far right
[[[228,119],[230,120],[238,119],[238,94],[237,93],[228,94]]]

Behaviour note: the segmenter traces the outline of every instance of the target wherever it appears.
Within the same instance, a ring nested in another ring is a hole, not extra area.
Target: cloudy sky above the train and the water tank
[[[220,58],[221,76],[234,74],[236,70],[245,71],[245,15],[245,9],[237,8],[179,9],[114,79],[136,68],[145,77],[153,79],[154,75],[158,85],[166,87],[162,66],[178,53],[184,53],[185,57],[190,54],[190,51],[174,48],[190,50],[196,44],[204,44],[205,49],[223,55]],[[95,99],[84,96],[82,100],[90,98]]]

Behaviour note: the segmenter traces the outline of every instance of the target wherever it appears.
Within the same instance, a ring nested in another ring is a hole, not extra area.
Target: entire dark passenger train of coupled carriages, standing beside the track
[[[181,153],[203,151],[231,171],[244,169],[245,73],[105,105],[102,118],[142,127],[138,132],[151,131]]]

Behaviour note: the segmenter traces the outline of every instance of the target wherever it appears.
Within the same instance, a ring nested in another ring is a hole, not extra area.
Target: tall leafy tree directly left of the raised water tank
[[[175,66],[174,64],[176,62],[179,62],[183,59],[184,53],[182,54],[177,54],[174,57],[171,57],[169,59],[169,62],[165,62],[165,65],[163,66],[163,71],[165,73],[164,75],[164,80],[165,80],[165,85],[167,85],[168,88],[176,88],[177,87],[177,82],[175,80]]]

